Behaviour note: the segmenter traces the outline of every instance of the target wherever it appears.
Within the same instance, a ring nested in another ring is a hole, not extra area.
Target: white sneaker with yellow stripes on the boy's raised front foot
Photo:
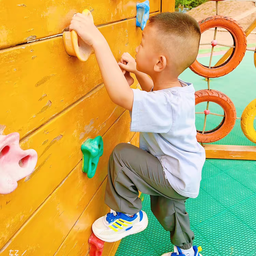
[[[146,212],[140,211],[133,217],[122,212],[110,212],[93,223],[92,231],[102,241],[112,243],[126,236],[139,233],[147,226]]]

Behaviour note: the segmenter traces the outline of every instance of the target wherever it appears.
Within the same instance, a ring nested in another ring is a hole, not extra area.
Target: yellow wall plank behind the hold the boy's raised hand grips
[[[135,55],[141,29],[130,19],[100,28],[115,58]],[[67,55],[62,37],[0,52],[0,127],[25,137],[102,83],[95,55],[81,62]],[[35,58],[34,58],[35,57]]]

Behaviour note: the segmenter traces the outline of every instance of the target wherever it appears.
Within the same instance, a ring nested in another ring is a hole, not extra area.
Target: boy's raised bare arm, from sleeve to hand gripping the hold
[[[95,27],[92,14],[90,12],[86,15],[76,13],[69,29],[74,29],[86,44],[93,47],[110,99],[131,111],[133,91],[119,68],[106,39]]]

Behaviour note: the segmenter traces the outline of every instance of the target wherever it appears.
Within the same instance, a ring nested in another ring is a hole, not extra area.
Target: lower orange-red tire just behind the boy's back
[[[222,107],[224,115],[221,123],[213,130],[197,131],[197,141],[201,143],[210,143],[226,137],[236,123],[236,108],[234,103],[222,92],[215,90],[200,90],[195,93],[196,105],[201,102],[214,102]]]

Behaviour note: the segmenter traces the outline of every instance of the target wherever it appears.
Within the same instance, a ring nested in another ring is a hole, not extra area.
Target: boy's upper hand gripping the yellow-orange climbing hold
[[[86,15],[76,13],[70,23],[69,30],[75,30],[87,45],[94,46],[105,39],[94,25],[90,12],[87,12]]]

